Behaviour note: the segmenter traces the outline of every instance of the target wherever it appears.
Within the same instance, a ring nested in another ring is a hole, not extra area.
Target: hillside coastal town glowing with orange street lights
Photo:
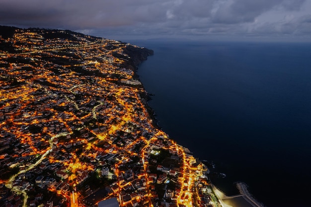
[[[153,51],[67,30],[7,33],[0,207],[223,206],[209,169],[155,123],[135,73]]]

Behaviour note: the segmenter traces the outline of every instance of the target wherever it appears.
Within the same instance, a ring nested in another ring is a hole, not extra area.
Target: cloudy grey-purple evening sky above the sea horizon
[[[0,25],[112,38],[311,41],[311,0],[1,0]]]

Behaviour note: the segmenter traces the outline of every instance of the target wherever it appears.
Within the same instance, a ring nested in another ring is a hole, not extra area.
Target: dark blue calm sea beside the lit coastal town
[[[160,127],[266,207],[311,207],[311,44],[131,41]]]

